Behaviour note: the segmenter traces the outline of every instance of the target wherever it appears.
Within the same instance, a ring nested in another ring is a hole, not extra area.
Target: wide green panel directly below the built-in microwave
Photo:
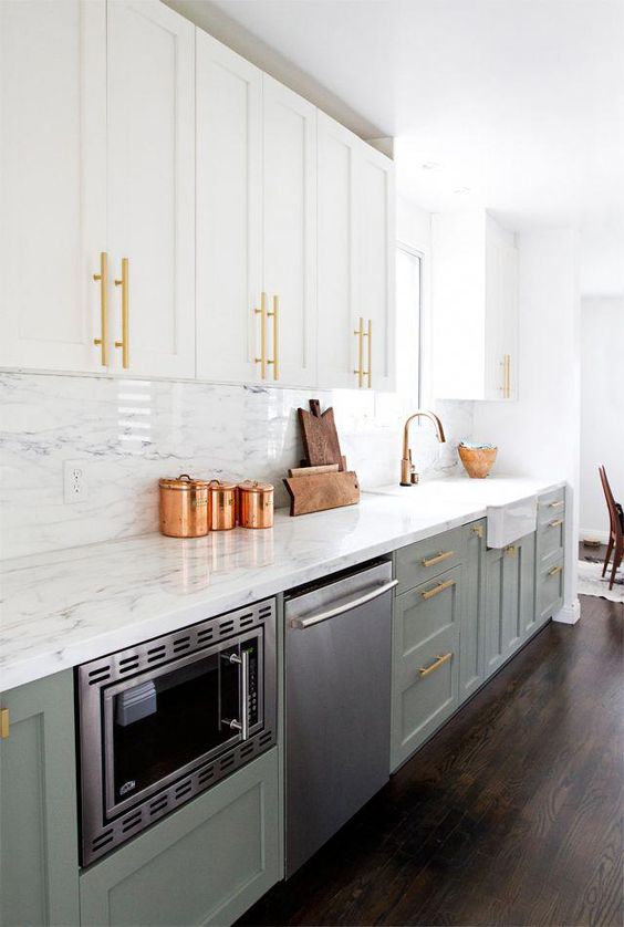
[[[278,750],[80,877],[83,925],[233,923],[281,878]]]

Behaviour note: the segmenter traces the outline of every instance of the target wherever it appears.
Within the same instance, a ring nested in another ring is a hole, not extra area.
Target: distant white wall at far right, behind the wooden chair
[[[607,540],[597,468],[624,500],[624,296],[581,302],[581,538]]]

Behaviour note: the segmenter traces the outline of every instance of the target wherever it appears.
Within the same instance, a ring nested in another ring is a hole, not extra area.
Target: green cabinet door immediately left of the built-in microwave
[[[80,921],[71,670],[0,695],[0,924]]]

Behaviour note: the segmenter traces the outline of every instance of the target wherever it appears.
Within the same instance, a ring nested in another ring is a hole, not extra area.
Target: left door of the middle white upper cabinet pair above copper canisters
[[[262,72],[197,30],[197,375],[260,378]]]

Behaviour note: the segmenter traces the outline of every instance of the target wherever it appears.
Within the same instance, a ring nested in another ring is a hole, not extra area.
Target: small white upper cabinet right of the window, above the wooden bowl
[[[485,210],[433,217],[435,395],[514,399],[518,252]]]

